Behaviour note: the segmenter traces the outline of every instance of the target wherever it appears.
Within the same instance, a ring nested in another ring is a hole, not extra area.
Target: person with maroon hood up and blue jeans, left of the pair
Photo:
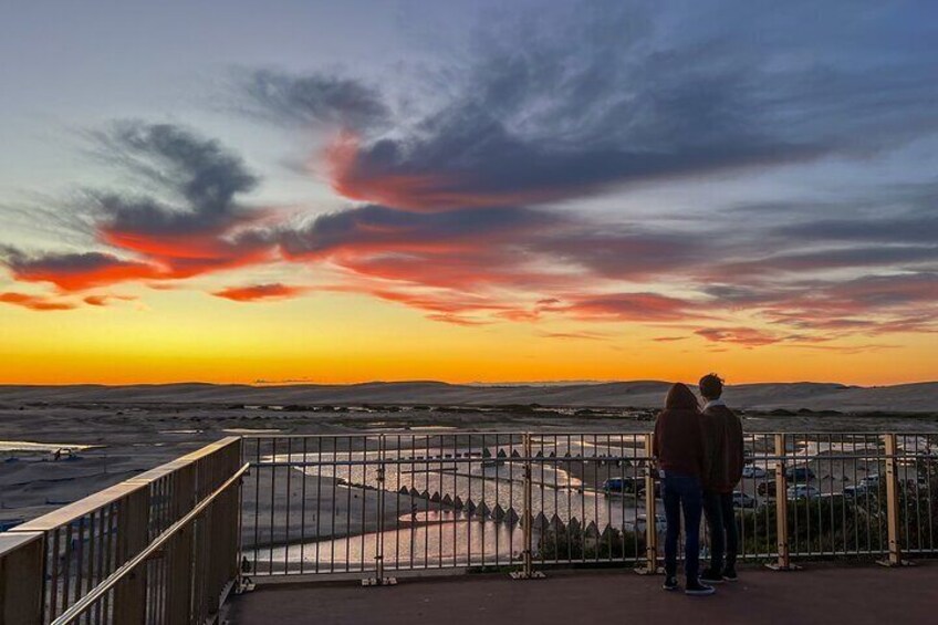
[[[700,428],[697,397],[684,385],[675,384],[668,390],[665,409],[655,421],[653,452],[663,480],[663,499],[667,533],[665,537],[666,591],[676,591],[677,538],[680,533],[680,513],[684,511],[685,593],[713,594],[713,586],[699,580],[701,479],[708,471]],[[653,522],[653,520],[648,520]]]

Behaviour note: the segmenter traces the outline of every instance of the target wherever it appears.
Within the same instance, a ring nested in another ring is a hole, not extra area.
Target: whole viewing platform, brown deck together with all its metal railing
[[[706,598],[647,574],[653,442],[223,438],[0,533],[0,624],[935,621],[938,435],[748,433],[741,581]]]

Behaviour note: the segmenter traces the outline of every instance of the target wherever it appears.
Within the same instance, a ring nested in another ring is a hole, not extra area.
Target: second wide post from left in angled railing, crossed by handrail
[[[123,563],[149,543],[149,489],[140,488],[121,501],[117,518],[117,554]],[[143,625],[147,606],[147,572],[138,567],[114,588],[114,622]]]

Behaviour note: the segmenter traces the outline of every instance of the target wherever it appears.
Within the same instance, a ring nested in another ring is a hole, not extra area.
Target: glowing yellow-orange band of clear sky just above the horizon
[[[199,314],[191,314],[192,310]],[[336,315],[335,311],[342,311]],[[730,383],[892,384],[934,374],[938,341],[852,353],[729,347],[699,336],[657,342],[638,324],[500,322],[463,327],[363,295],[326,294],[244,305],[201,292],[159,292],[145,305],[37,313],[0,309],[0,383],[161,383],[259,379],[522,382],[684,379],[718,371]],[[601,338],[549,334],[603,333]],[[675,331],[667,334],[676,334]]]

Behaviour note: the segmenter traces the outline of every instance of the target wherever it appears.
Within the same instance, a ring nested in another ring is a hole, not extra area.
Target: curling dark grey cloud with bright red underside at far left
[[[140,178],[152,192],[93,189],[72,208],[91,216],[100,243],[136,258],[100,251],[27,256],[8,248],[4,263],[15,279],[81,291],[186,279],[272,258],[271,242],[256,228],[267,213],[238,202],[258,179],[218,142],[143,122],[116,123],[94,137],[102,158]]]

